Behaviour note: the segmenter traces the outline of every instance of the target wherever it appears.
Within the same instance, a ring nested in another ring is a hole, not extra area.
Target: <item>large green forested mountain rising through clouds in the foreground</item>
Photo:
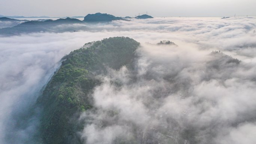
[[[42,110],[38,140],[43,144],[82,144],[77,132],[83,125],[77,119],[94,107],[90,93],[101,83],[97,76],[104,75],[108,67],[129,67],[139,45],[128,37],[111,37],[87,43],[65,56],[34,106]]]

